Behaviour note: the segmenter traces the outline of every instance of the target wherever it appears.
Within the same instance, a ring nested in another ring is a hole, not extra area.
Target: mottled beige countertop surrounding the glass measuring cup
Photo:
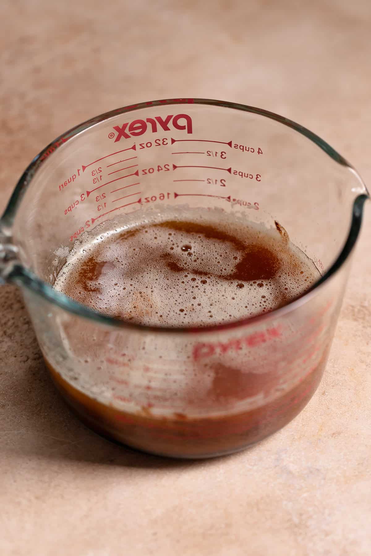
[[[179,96],[287,116],[371,183],[368,0],[3,0],[0,21],[1,208],[67,128]],[[1,554],[371,554],[370,239],[367,206],[308,406],[253,448],[199,463],[86,429],[48,378],[19,291],[0,287]]]

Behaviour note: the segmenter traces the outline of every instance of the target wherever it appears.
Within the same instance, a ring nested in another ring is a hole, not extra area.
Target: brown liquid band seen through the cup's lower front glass
[[[174,413],[171,418],[156,418],[150,411],[140,414],[120,411],[77,390],[63,380],[48,361],[46,364],[68,405],[98,434],[157,455],[207,458],[245,448],[294,419],[313,396],[323,375],[328,351],[329,347],[318,366],[279,399],[251,411],[204,419],[187,418],[184,413]],[[237,386],[230,386],[234,393]],[[259,388],[258,384],[255,386]]]

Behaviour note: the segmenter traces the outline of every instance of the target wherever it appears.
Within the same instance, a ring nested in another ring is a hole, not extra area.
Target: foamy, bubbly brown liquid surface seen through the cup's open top
[[[271,311],[320,277],[279,226],[205,209],[139,218],[74,247],[55,289],[117,319],[190,327]]]

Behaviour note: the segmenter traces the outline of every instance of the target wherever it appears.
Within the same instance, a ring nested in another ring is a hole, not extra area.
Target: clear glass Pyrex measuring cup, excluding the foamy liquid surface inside
[[[342,156],[286,118],[141,103],[34,158],[0,221],[0,280],[21,287],[52,378],[86,424],[156,454],[230,453],[288,423],[318,386],[368,197]],[[119,322],[53,289],[73,246],[135,211],[185,205],[277,222],[321,278],[269,314],[192,330]]]

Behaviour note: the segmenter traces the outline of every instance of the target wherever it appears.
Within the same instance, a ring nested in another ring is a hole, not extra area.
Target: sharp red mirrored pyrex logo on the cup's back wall
[[[176,116],[171,114],[165,118],[155,116],[154,118],[146,118],[146,120],[126,122],[123,126],[113,126],[113,129],[117,131],[115,143],[120,141],[122,137],[130,139],[130,137],[143,135],[149,127],[152,133],[157,133],[158,128],[160,128],[160,131],[170,131],[169,125],[172,125],[176,130],[187,130],[187,133],[192,133],[192,118],[187,114],[177,114]]]

